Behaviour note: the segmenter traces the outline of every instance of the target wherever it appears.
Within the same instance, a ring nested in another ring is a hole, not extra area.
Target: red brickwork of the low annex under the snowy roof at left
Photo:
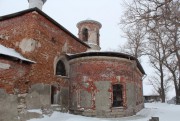
[[[9,69],[0,68],[0,88],[5,89],[8,93],[26,92],[30,86],[27,77],[31,64],[19,60],[7,60],[2,57],[0,57],[0,63],[9,65]]]

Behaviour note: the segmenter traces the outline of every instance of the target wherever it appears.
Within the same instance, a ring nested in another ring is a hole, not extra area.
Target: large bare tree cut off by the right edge
[[[163,17],[170,46],[165,65],[173,76],[176,104],[180,104],[180,2],[175,0],[166,4]]]

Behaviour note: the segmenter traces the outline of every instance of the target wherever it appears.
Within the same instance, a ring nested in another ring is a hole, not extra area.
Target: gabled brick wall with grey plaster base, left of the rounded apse
[[[3,68],[7,68],[7,70],[0,70],[2,72],[0,73],[0,88],[5,89],[7,93],[16,94],[15,91],[17,91],[18,94],[22,94],[20,98],[25,99],[25,105],[23,104],[22,109],[31,109],[36,106],[39,108],[46,104],[50,105],[50,86],[57,85],[61,92],[59,104],[67,110],[69,105],[69,79],[68,75],[66,77],[55,75],[56,64],[58,60],[62,59],[68,73],[68,62],[62,58],[63,55],[65,53],[84,52],[87,50],[87,46],[78,42],[36,11],[13,18],[1,19],[0,44],[13,48],[24,57],[36,62],[27,68],[27,65],[16,63],[12,71],[12,68],[9,69],[8,67],[9,62],[3,60],[3,63],[7,62],[7,65],[3,65]],[[17,66],[18,64],[20,68]],[[20,73],[18,70],[22,70],[22,72]],[[22,74],[24,72],[25,75]],[[18,75],[22,79],[17,78],[17,81],[14,81],[14,77],[16,79]],[[37,86],[42,91],[38,91]],[[15,87],[18,89],[15,90]],[[36,99],[32,99],[31,96],[36,97]],[[43,100],[40,100],[41,97]],[[36,101],[37,103],[33,103]]]

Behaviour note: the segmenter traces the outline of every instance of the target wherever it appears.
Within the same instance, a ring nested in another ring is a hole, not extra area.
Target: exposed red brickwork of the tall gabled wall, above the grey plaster
[[[85,45],[75,40],[69,34],[35,11],[0,21],[0,35],[6,37],[5,39],[0,39],[0,44],[14,48],[24,57],[36,61],[36,64],[32,64],[28,76],[23,77],[24,80],[30,80],[31,84],[42,82],[48,84],[62,83],[61,85],[67,86],[67,79],[57,77],[54,74],[58,58],[65,52],[78,53],[87,50]],[[35,49],[29,52],[21,50],[20,44],[23,39],[33,39],[36,43]],[[19,66],[18,63],[17,66]],[[24,66],[24,64],[21,66]],[[13,80],[13,76],[18,76],[18,73],[15,73],[16,71],[5,71],[3,73],[12,75],[12,77],[8,76],[8,78]],[[16,85],[20,88],[19,90],[24,90],[23,84],[17,83]]]

